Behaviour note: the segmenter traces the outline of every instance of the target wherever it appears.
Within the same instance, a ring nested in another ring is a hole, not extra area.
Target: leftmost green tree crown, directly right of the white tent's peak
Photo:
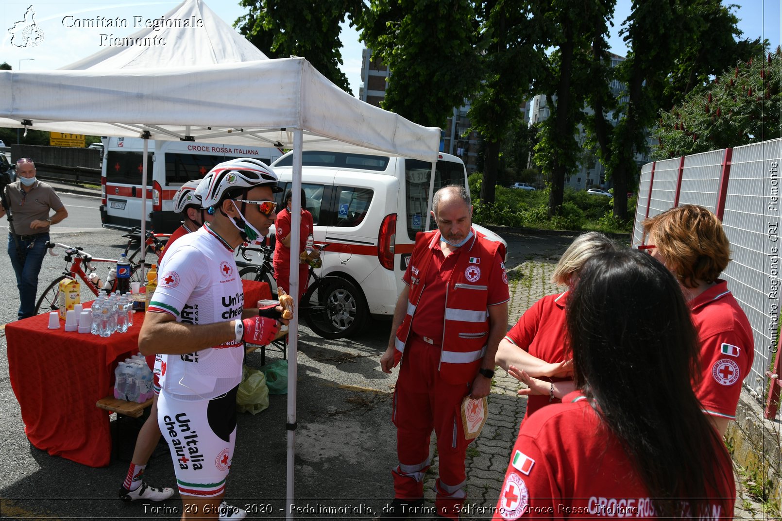
[[[301,56],[332,83],[350,91],[343,64],[340,23],[351,26],[363,9],[361,0],[241,0],[249,9],[235,26],[250,42],[270,58]]]

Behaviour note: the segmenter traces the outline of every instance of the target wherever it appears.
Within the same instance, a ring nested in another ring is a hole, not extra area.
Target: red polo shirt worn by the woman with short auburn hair
[[[727,282],[716,282],[689,303],[701,341],[702,377],[693,388],[705,413],[736,419],[741,382],[752,367],[755,342],[747,315]]]

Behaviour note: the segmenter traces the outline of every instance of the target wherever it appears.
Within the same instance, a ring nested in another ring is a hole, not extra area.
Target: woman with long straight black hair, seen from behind
[[[676,279],[637,250],[587,260],[566,308],[576,391],[518,433],[494,519],[733,516],[730,456],[691,378]]]

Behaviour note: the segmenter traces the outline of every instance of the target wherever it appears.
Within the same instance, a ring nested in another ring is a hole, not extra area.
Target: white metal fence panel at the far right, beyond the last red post
[[[723,272],[752,325],[755,359],[744,379],[762,397],[776,349],[780,288],[779,181],[782,139],[736,147],[723,228],[732,261]]]

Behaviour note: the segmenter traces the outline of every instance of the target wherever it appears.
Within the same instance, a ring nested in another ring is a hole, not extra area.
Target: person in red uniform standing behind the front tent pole
[[[281,210],[277,214],[277,219],[274,221],[274,228],[277,235],[277,243],[274,245],[274,278],[277,280],[277,286],[285,289],[285,293],[290,293],[290,265],[291,265],[291,224],[294,221],[291,218],[291,200],[293,196],[291,191],[285,193],[285,209]],[[301,191],[301,219],[299,225],[301,227],[301,233],[299,235],[299,247],[296,248],[296,256],[300,255],[307,248],[307,239],[311,240],[313,221],[312,214],[304,209],[304,191]],[[309,245],[312,248],[312,245]],[[298,304],[301,297],[304,296],[304,292],[307,291],[307,280],[309,275],[308,264],[299,264],[299,298],[296,300]]]

